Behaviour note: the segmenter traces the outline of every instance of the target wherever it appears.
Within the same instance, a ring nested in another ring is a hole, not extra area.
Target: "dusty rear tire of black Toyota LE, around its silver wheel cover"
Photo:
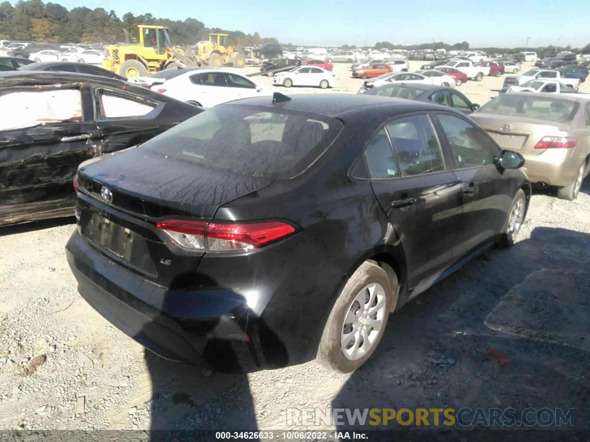
[[[346,314],[356,295],[371,283],[378,283],[385,291],[383,325],[369,351],[359,359],[350,360],[344,355],[342,345],[340,344],[340,334],[345,324]],[[346,285],[332,307],[332,311],[324,326],[320,345],[317,348],[316,361],[329,370],[341,373],[350,373],[364,364],[371,357],[383,337],[389,312],[395,308],[397,293],[398,281],[394,272],[389,272],[388,275],[388,272],[379,267],[375,262],[363,262],[356,272],[350,276],[350,279],[346,282]]]

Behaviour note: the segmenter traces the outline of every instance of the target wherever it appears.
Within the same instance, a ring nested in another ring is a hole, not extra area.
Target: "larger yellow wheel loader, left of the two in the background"
[[[139,43],[131,43],[129,32],[123,29],[126,44],[106,47],[103,68],[130,78],[197,64],[194,54],[185,55],[182,50],[172,48],[168,28],[152,25],[138,25],[137,28]]]

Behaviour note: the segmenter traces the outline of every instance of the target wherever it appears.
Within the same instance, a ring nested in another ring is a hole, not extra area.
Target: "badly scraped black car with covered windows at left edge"
[[[201,111],[95,75],[0,72],[0,225],[73,215],[78,164]]]

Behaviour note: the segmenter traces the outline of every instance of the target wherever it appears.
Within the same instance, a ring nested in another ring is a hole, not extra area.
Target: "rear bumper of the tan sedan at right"
[[[576,180],[584,159],[570,149],[547,149],[537,156],[525,155],[525,161],[530,182],[564,187]]]

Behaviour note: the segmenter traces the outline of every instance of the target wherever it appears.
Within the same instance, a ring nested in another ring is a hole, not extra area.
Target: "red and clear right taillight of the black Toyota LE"
[[[169,219],[156,223],[156,227],[182,248],[202,252],[259,249],[295,232],[293,226],[277,221],[230,224]]]

